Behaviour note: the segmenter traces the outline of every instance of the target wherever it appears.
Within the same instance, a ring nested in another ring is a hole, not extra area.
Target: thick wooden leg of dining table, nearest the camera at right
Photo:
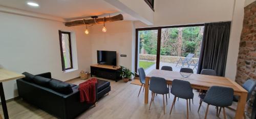
[[[240,100],[238,101],[238,106],[236,110],[236,116],[234,117],[235,119],[243,118],[246,99],[247,99],[247,93],[241,93]]]

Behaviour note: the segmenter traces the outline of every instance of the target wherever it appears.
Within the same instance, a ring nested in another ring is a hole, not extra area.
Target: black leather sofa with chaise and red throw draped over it
[[[52,79],[51,73],[23,74],[25,78],[16,80],[19,97],[58,118],[75,118],[94,105],[81,103],[78,86]],[[98,79],[96,87],[96,102],[111,90],[104,80]]]

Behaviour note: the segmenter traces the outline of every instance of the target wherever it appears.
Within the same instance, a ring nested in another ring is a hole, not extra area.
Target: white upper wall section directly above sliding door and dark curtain
[[[154,25],[182,25],[229,21],[234,0],[161,0],[155,1]]]

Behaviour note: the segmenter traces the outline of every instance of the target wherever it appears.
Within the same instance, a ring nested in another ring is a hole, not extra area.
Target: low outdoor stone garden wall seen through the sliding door
[[[185,59],[185,57],[181,57],[182,60]],[[156,61],[157,56],[156,55],[148,55],[148,54],[140,54],[139,55],[140,60],[149,60],[149,61]],[[160,56],[160,62],[166,62],[166,63],[177,63],[177,61],[180,59],[178,56]],[[195,63],[197,63],[198,58],[192,58],[195,60]]]

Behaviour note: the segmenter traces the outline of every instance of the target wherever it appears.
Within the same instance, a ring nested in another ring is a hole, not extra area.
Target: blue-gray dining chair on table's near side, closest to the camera
[[[223,115],[226,119],[225,107],[231,106],[233,102],[234,90],[229,87],[211,86],[207,91],[203,102],[207,103],[207,108],[204,118],[206,119],[209,105],[223,108]],[[220,109],[221,110],[221,109]],[[218,108],[217,108],[218,115]]]

